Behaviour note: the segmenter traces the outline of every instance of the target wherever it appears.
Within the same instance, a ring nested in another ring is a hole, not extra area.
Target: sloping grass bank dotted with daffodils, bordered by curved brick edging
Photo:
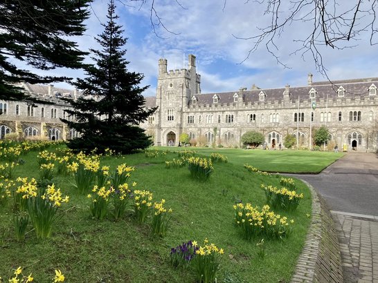
[[[125,162],[136,166],[131,182],[137,182],[139,189],[152,191],[156,202],[166,200],[173,213],[167,236],[163,238],[151,235],[148,225],[138,224],[131,207],[127,217],[120,221],[92,219],[90,200],[74,191],[73,178],[57,176],[55,184],[70,196],[70,202],[60,209],[61,219],[55,224],[51,239],[37,240],[29,224],[26,240],[17,242],[10,199],[0,208],[0,276],[7,279],[13,274],[12,269],[22,266],[24,274],[33,273],[36,282],[51,282],[55,269],[64,273],[66,282],[194,282],[190,269],[182,271],[170,266],[170,248],[188,240],[202,242],[207,237],[225,251],[217,282],[289,282],[305,241],[307,214],[311,213],[311,197],[305,184],[297,182],[299,191],[305,194],[298,209],[292,213],[278,211],[294,219],[293,233],[284,240],[265,239],[267,255],[263,259],[258,257],[256,247],[261,239],[243,240],[233,223],[235,202],[251,202],[261,207],[265,197],[260,185],[279,185],[278,177],[249,173],[242,165],[248,163],[264,170],[253,160],[257,157],[261,160],[264,155],[276,158],[289,151],[233,153],[233,150],[206,149],[200,153],[212,152],[228,155],[228,163],[214,164],[214,173],[207,182],[191,179],[186,167],[166,169],[164,162],[177,158],[177,153],[158,158],[138,153],[102,159],[102,165],[112,168]],[[15,175],[37,177],[36,155],[32,152],[22,157],[25,164],[18,166]],[[315,154],[313,157],[317,158]],[[289,167],[288,164],[285,168]]]

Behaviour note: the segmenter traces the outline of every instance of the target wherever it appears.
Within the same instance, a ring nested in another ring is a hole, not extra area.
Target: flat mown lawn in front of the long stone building
[[[159,147],[162,150],[195,150],[203,155],[222,153],[233,164],[252,165],[259,170],[279,173],[320,173],[335,162],[343,153],[318,152],[308,150],[260,150],[240,148],[172,148]]]

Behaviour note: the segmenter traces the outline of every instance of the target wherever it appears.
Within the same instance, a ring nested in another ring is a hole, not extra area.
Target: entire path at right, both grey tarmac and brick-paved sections
[[[312,184],[330,207],[341,247],[344,282],[378,283],[378,155],[348,153]]]

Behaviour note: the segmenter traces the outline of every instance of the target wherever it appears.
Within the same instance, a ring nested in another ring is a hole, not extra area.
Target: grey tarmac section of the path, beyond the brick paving
[[[378,155],[347,153],[318,175],[295,175],[316,189],[331,211],[378,215]]]

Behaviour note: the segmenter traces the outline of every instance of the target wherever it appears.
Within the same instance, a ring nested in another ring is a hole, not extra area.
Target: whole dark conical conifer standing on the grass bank
[[[67,112],[75,115],[76,121],[62,121],[81,133],[80,138],[69,142],[74,150],[97,148],[102,152],[111,148],[117,153],[131,153],[152,144],[144,130],[136,125],[145,121],[156,108],[143,108],[142,92],[148,86],[138,85],[144,76],[127,70],[129,62],[123,58],[127,38],[122,36],[122,26],[116,24],[115,8],[114,0],[111,0],[107,23],[102,24],[105,30],[96,37],[102,50],[90,49],[96,65],[85,67],[87,77],[75,83],[84,97],[76,101],[66,99],[73,106],[73,110]]]

